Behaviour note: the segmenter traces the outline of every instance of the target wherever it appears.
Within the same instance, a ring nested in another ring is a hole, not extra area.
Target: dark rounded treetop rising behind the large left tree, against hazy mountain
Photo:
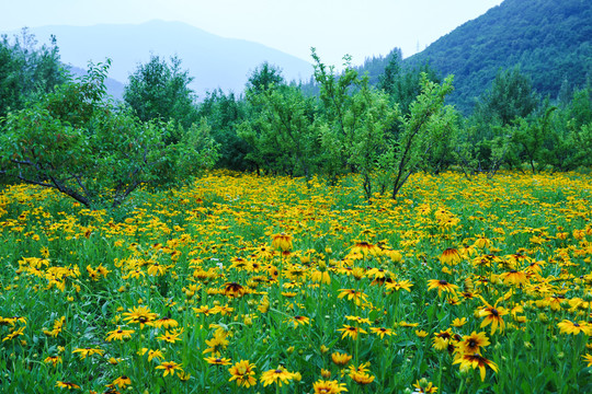
[[[170,65],[159,56],[150,56],[129,76],[124,101],[141,121],[175,120],[185,128],[198,120],[195,95],[190,89],[193,78],[182,70],[181,59],[171,57]]]

